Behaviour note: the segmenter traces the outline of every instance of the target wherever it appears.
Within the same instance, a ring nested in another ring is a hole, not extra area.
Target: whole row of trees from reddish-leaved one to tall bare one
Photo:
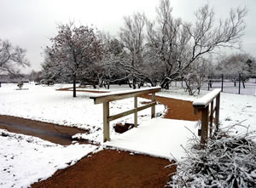
[[[209,57],[217,48],[239,47],[246,14],[245,8],[230,9],[227,18],[216,21],[205,5],[195,12],[194,22],[187,22],[173,16],[169,0],[160,0],[154,20],[143,13],[125,16],[118,36],[74,22],[60,24],[44,49],[41,77],[73,82],[74,97],[78,82],[131,88],[169,88],[180,79],[200,83],[212,69]]]

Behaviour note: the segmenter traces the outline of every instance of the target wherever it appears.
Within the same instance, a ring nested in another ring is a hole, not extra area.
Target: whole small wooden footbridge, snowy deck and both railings
[[[197,132],[195,128],[196,122],[154,118],[153,120],[144,122],[137,128],[137,111],[151,107],[151,117],[155,117],[155,93],[159,92],[160,89],[160,87],[134,89],[108,94],[97,94],[90,97],[90,99],[95,101],[95,104],[103,103],[103,142],[108,141],[105,145],[165,158],[170,157],[170,152],[173,150],[183,152],[183,148],[177,148],[177,143],[178,145],[185,144],[183,143],[184,138],[189,135],[191,136],[189,130],[194,134]],[[151,94],[151,102],[148,105],[137,107],[137,97],[142,94]],[[134,98],[134,109],[109,116],[109,102],[131,97]],[[198,134],[201,136],[202,145],[206,143],[208,134],[212,136],[213,122],[216,124],[215,128],[218,129],[219,101],[220,89],[215,89],[201,99],[195,100],[193,103],[195,113],[201,111],[201,128],[198,130]],[[135,128],[110,140],[109,122],[132,113],[134,113]],[[215,117],[213,117],[214,114]],[[208,128],[209,126],[210,128]]]

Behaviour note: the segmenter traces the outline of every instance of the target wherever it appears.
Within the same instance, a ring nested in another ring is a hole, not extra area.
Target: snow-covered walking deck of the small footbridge
[[[196,122],[191,121],[153,118],[137,128],[113,137],[104,145],[154,157],[180,160],[185,157],[181,145],[185,147],[189,138],[193,137],[189,130],[197,134],[198,128],[195,124]]]

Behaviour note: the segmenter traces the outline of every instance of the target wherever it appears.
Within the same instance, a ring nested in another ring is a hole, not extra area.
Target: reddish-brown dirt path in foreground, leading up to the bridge
[[[129,152],[104,150],[92,157],[84,157],[70,168],[60,170],[32,188],[108,188],[108,187],[164,187],[176,167],[165,159]]]

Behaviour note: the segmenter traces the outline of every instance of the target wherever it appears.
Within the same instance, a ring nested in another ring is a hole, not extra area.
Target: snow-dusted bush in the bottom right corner
[[[255,133],[228,135],[219,131],[209,139],[204,149],[191,151],[177,162],[177,173],[170,187],[256,187]],[[170,166],[172,166],[170,165]]]

